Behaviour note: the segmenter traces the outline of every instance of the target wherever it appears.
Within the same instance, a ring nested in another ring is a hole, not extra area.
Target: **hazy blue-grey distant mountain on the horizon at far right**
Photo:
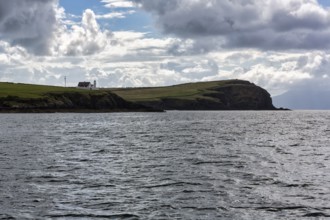
[[[297,110],[328,110],[330,109],[330,91],[327,90],[293,90],[273,97],[277,107]]]

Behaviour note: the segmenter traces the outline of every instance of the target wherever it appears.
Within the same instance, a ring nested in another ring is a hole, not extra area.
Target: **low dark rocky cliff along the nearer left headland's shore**
[[[155,111],[138,103],[125,101],[110,92],[100,93],[48,93],[43,98],[23,99],[8,96],[0,99],[2,112],[111,112]]]

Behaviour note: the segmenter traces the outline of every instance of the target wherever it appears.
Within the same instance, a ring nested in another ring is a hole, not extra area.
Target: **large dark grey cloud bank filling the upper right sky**
[[[330,48],[330,12],[316,0],[134,2],[156,17],[164,33],[193,39],[206,50],[211,48],[208,44],[275,50]]]

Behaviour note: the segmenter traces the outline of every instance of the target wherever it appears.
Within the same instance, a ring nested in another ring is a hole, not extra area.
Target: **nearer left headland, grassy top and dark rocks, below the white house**
[[[109,90],[0,82],[1,112],[156,111],[127,102]]]

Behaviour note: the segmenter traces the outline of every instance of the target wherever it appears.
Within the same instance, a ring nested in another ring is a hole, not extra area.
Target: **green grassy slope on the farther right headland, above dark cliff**
[[[111,89],[112,92],[129,101],[158,101],[162,98],[175,98],[195,100],[197,98],[210,99],[203,96],[205,93],[213,93],[212,88],[224,86],[235,80],[187,83],[168,87]]]

